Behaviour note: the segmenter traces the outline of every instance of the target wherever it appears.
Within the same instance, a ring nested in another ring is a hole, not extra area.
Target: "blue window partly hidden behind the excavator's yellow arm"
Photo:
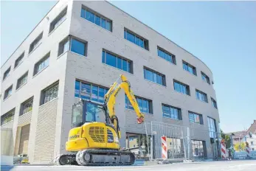
[[[152,106],[152,100],[147,100],[142,97],[135,97],[136,101],[139,105],[139,110],[145,114],[153,114],[153,106]],[[133,106],[131,105],[131,102],[128,100],[128,97],[125,94],[125,108],[134,110]]]

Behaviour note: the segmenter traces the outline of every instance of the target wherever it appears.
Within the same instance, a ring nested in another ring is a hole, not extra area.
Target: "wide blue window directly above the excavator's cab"
[[[104,102],[104,95],[108,92],[108,88],[96,86],[91,83],[83,83],[80,80],[75,81],[75,97],[96,102]]]

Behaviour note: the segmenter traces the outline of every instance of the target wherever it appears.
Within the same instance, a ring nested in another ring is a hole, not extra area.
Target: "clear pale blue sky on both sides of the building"
[[[256,119],[256,1],[111,3],[203,60],[214,76],[221,128],[249,128]],[[1,1],[1,65],[54,4]]]

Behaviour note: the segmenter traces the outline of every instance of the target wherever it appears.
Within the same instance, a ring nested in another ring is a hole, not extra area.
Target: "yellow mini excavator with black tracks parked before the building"
[[[117,94],[123,89],[134,107],[137,122],[144,122],[144,115],[139,110],[131,85],[124,75],[109,88],[104,102],[80,100],[73,105],[72,129],[66,142],[66,151],[55,158],[55,164],[75,164],[83,166],[122,166],[134,164],[135,157],[130,151],[120,150],[120,126],[114,105]],[[101,115],[100,113],[102,111]],[[98,114],[98,115],[97,115]],[[105,122],[95,122],[105,116]]]

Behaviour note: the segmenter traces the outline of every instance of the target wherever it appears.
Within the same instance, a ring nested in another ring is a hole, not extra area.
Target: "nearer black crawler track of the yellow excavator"
[[[128,151],[88,149],[79,151],[76,159],[83,166],[125,166],[134,164],[135,156]]]

